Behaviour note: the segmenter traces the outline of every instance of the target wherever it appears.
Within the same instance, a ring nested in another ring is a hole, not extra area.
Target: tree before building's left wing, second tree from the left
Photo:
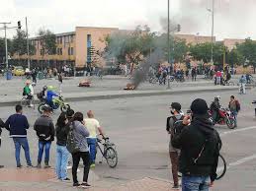
[[[56,53],[56,36],[49,30],[40,29],[39,36],[42,40],[42,56]]]

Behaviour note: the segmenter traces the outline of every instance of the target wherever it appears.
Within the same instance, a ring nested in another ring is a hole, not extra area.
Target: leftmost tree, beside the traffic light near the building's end
[[[32,55],[36,47],[29,43],[30,55]],[[24,55],[27,54],[27,33],[25,31],[17,30],[17,34],[13,37],[11,54]]]

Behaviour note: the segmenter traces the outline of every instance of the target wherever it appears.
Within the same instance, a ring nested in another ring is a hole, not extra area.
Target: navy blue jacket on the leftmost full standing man
[[[27,117],[19,113],[11,115],[5,126],[10,131],[10,137],[27,137],[27,129],[30,128]]]

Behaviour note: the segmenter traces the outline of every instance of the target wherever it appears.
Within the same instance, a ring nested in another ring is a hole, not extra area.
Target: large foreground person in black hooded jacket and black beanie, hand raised
[[[172,138],[172,146],[181,149],[179,171],[183,191],[209,191],[216,178],[221,140],[213,129],[206,100],[191,104],[192,115],[184,117],[183,129]]]

